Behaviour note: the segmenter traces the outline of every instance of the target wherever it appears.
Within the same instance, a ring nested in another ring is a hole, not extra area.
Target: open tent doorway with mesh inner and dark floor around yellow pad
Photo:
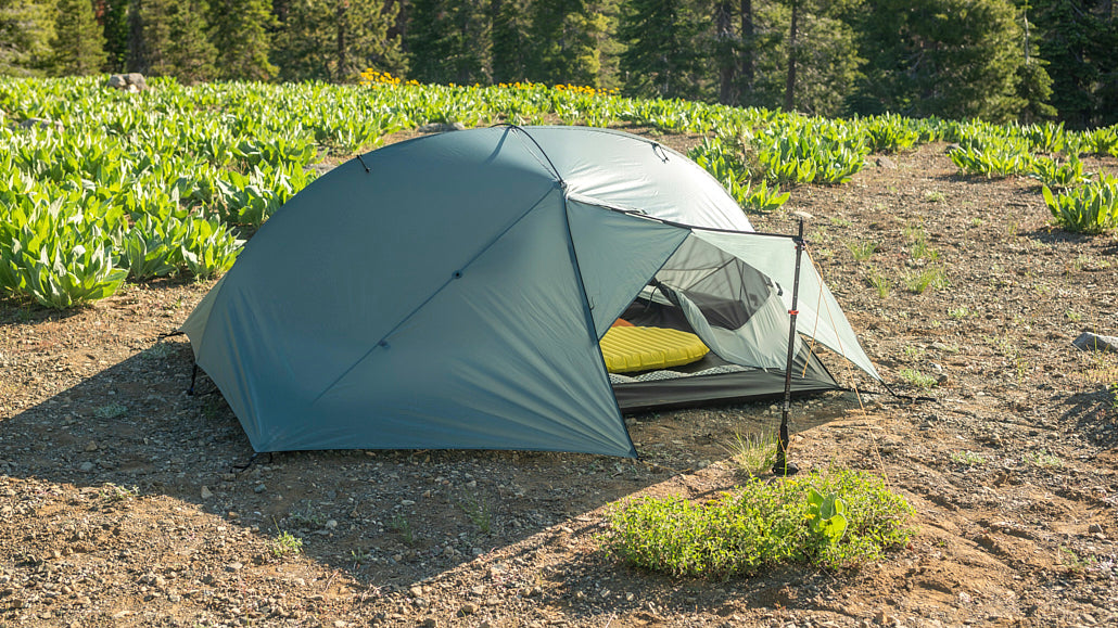
[[[684,240],[620,320],[695,334],[710,351],[684,364],[612,371],[618,407],[638,412],[783,396],[788,317],[777,316],[783,329],[775,329],[769,308],[779,307],[785,289],[792,288],[712,245]],[[774,346],[780,351],[774,353]],[[773,355],[783,356],[783,363],[774,363]],[[797,341],[792,371],[794,394],[842,388],[805,342]]]

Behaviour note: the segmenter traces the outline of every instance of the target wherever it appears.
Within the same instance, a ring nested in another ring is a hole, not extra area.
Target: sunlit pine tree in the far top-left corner
[[[39,74],[50,56],[53,2],[0,0],[0,75]]]

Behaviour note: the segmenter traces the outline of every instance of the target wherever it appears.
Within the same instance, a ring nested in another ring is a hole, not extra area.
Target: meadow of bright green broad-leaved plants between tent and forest
[[[690,155],[749,212],[778,210],[802,184],[842,184],[871,153],[950,142],[964,175],[1027,175],[1053,220],[1118,227],[1118,179],[1080,156],[1118,156],[1118,127],[991,125],[896,115],[827,120],[764,108],[634,99],[590,88],[514,84],[361,85],[103,78],[0,78],[0,295],[67,308],[125,279],[206,278],[231,267],[245,238],[315,178],[311,168],[430,122],[484,126],[644,126],[703,135]]]

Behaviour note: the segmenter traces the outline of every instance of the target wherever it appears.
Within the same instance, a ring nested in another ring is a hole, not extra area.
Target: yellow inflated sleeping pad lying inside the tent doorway
[[[690,364],[710,351],[694,334],[661,327],[609,327],[599,344],[610,373]]]

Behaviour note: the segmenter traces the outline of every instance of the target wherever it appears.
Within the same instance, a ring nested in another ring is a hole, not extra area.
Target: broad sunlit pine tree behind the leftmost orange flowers
[[[341,83],[367,68],[402,74],[407,59],[400,39],[388,36],[398,9],[353,0],[290,0],[273,45],[280,77]]]

